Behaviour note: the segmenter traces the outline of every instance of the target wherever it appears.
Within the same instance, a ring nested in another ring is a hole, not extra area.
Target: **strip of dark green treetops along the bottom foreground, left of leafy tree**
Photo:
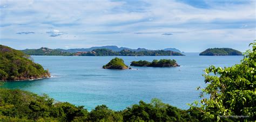
[[[123,111],[113,111],[98,105],[90,112],[83,106],[54,102],[47,95],[28,91],[0,89],[1,121],[185,121],[197,120],[186,110],[180,110],[158,99],[151,103],[140,101]]]

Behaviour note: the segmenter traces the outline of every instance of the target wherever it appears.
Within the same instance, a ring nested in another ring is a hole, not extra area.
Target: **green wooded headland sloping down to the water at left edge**
[[[49,77],[48,70],[30,60],[21,51],[0,45],[0,81]]]

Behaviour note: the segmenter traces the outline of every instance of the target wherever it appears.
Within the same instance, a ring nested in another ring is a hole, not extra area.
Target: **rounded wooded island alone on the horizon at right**
[[[219,56],[219,55],[242,55],[240,51],[231,48],[208,48],[199,55]]]

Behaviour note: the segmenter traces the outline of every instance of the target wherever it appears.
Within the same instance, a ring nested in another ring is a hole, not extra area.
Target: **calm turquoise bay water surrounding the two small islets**
[[[242,56],[118,56],[128,65],[131,61],[175,59],[181,67],[132,67],[133,70],[102,69],[114,56],[32,56],[35,62],[49,69],[53,77],[35,81],[6,82],[3,87],[23,89],[39,95],[48,94],[56,101],[84,105],[91,110],[106,104],[123,110],[140,100],[159,98],[181,109],[199,99],[198,86],[204,87],[204,69],[239,63]]]

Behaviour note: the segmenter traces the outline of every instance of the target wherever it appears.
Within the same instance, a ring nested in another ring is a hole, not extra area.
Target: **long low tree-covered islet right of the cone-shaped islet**
[[[152,62],[149,61],[132,61],[130,66],[135,67],[179,67],[179,64],[176,62],[176,60],[171,59],[160,59],[153,60]]]

